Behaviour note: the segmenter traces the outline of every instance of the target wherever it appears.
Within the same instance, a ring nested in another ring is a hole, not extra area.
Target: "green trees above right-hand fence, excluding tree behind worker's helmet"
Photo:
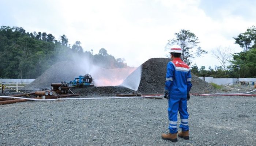
[[[238,44],[244,51],[240,53],[227,54],[228,51],[220,50],[215,54],[216,61],[221,64],[229,62],[228,66],[205,66],[198,68],[196,64],[191,65],[191,72],[197,76],[214,78],[253,78],[256,77],[256,28],[247,28],[244,33],[240,33],[234,38],[234,43]],[[227,49],[227,48],[226,48]],[[231,56],[230,58],[227,56]],[[225,58],[226,57],[226,58]],[[218,59],[217,59],[218,58]]]

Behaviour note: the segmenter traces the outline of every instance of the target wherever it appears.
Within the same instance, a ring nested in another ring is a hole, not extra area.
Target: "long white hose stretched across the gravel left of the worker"
[[[90,98],[59,98],[59,99],[32,99],[32,98],[24,98],[24,97],[0,96],[0,98],[15,98],[15,99],[26,99],[26,100],[33,100],[33,101],[71,100],[71,99],[124,99],[124,98],[147,98],[147,97],[163,97],[163,96],[157,95],[157,96],[90,97]]]

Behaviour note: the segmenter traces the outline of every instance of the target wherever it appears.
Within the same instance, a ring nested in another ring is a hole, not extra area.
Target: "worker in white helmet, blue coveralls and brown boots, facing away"
[[[192,87],[189,66],[181,60],[182,49],[174,45],[170,49],[171,59],[167,64],[164,97],[168,99],[169,134],[162,134],[162,138],[177,142],[178,137],[189,139],[187,100]],[[177,129],[178,111],[180,113],[181,131]]]

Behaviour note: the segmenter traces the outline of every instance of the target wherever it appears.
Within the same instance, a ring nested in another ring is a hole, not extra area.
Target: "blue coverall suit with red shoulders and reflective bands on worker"
[[[180,58],[167,65],[165,90],[168,91],[168,115],[170,133],[177,133],[177,117],[180,113],[182,131],[188,131],[187,94],[192,87],[189,66]]]

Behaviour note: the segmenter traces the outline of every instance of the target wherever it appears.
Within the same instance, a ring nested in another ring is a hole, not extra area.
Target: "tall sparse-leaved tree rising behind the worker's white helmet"
[[[199,57],[202,54],[208,53],[207,51],[198,47],[198,37],[189,30],[181,30],[174,34],[176,38],[169,40],[166,44],[165,50],[169,49],[172,45],[179,45],[182,48],[181,59],[188,65],[191,64],[189,58]],[[197,47],[197,48],[196,48]],[[196,50],[194,50],[196,48]]]

